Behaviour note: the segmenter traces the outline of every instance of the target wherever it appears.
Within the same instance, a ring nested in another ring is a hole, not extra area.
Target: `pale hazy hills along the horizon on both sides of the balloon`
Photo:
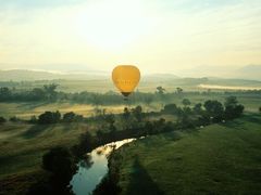
[[[247,84],[247,86],[260,86],[261,83],[261,66],[250,65],[240,69],[227,72],[231,77],[177,77],[173,74],[150,74],[142,75],[140,84],[177,84],[177,86],[195,86],[200,83],[208,84]],[[0,81],[34,81],[34,80],[108,80],[110,79],[110,73],[103,72],[70,72],[70,73],[55,73],[45,70],[28,70],[28,69],[11,69],[0,70]]]

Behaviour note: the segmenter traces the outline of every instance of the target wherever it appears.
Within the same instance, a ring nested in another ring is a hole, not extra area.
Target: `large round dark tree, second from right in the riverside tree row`
[[[204,102],[203,106],[206,108],[208,117],[210,119],[212,119],[212,121],[219,122],[223,119],[224,107],[223,107],[222,103],[220,103],[216,100],[214,100],[214,101],[208,100]]]

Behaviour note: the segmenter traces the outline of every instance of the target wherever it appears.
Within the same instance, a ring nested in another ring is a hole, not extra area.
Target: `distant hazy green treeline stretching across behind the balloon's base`
[[[124,100],[120,93],[109,91],[107,93],[95,92],[75,92],[66,93],[57,91],[58,84],[45,84],[41,88],[34,88],[32,90],[17,90],[15,88],[2,87],[0,88],[0,102],[75,102],[92,105],[115,105],[123,104]],[[176,88],[175,92],[166,92],[163,87],[158,87],[153,93],[134,92],[129,96],[129,104],[145,103],[149,105],[156,101],[171,101],[174,96],[183,98],[183,94],[214,94],[221,92],[211,92],[211,90],[204,92],[184,92],[182,88]],[[244,95],[261,95],[261,90],[251,91],[236,91],[236,92],[223,92],[226,95],[244,94]]]

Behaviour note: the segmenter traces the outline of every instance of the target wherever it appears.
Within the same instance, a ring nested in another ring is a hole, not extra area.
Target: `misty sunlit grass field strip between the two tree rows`
[[[259,94],[235,94],[240,104],[245,106],[246,112],[257,113],[261,106],[261,96]],[[189,99],[191,104],[203,103],[207,100],[217,100],[224,102],[228,94],[224,93],[210,93],[210,94],[186,94],[177,96],[174,95],[167,103],[182,104],[183,99]],[[141,104],[144,112],[160,110],[166,103],[152,102],[150,105]],[[126,105],[101,105],[99,108],[104,108],[107,113],[121,113]],[[16,116],[22,119],[29,119],[33,115],[38,116],[46,110],[60,110],[62,114],[66,112],[75,112],[85,117],[94,115],[95,106],[91,104],[77,104],[70,102],[27,102],[27,103],[0,103],[0,116],[10,118]]]

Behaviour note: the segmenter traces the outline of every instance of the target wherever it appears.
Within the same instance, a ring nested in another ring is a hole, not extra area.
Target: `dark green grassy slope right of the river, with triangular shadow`
[[[178,141],[176,138],[179,136]],[[122,194],[258,194],[261,116],[192,133],[153,135],[122,147]]]

